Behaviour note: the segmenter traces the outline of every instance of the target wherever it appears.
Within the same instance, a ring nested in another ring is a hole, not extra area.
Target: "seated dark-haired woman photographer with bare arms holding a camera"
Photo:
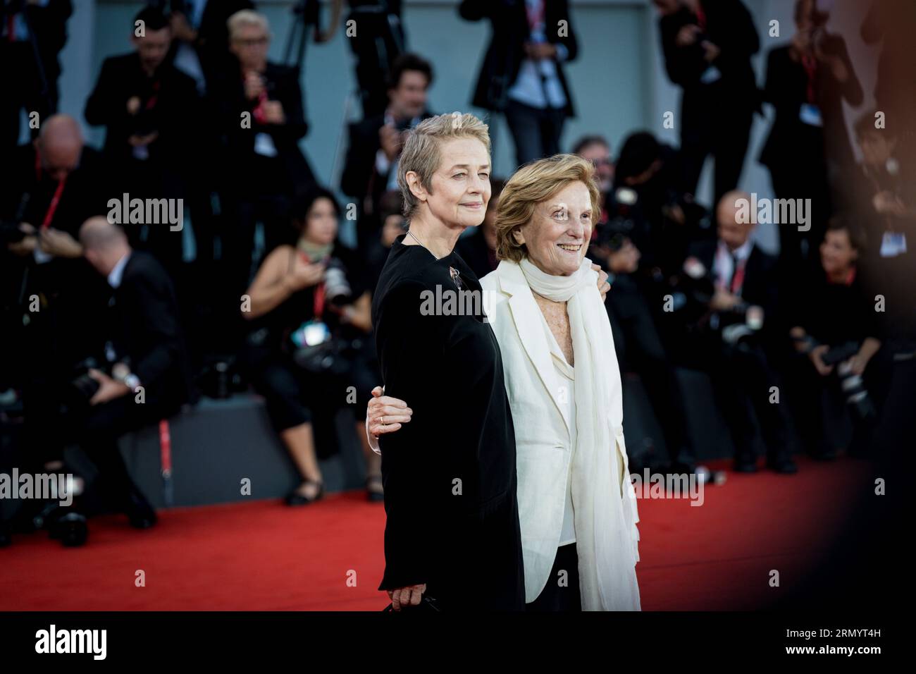
[[[348,403],[354,414],[365,409],[378,374],[363,265],[337,239],[340,205],[318,188],[298,198],[290,215],[299,238],[267,255],[246,293],[250,306],[243,305],[242,315],[252,328],[243,359],[300,471],[302,482],[286,503],[304,505],[324,492],[316,447],[323,447],[324,456],[333,453],[333,438],[318,435],[328,430],[318,422],[333,420],[333,412]],[[370,500],[380,500],[381,461],[369,447],[362,415],[357,417],[366,491]]]

